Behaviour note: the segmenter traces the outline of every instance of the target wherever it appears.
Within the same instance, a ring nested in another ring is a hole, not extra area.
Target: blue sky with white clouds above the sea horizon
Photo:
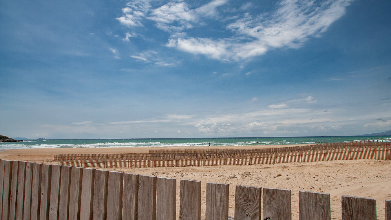
[[[391,130],[389,1],[1,1],[0,133]]]

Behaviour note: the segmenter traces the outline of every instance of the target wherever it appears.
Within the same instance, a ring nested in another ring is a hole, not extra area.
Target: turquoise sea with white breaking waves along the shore
[[[146,139],[62,139],[27,140],[0,143],[0,150],[27,148],[72,147],[197,147],[314,144],[315,142],[344,142],[358,140],[389,140],[391,136],[329,136],[329,137],[266,137],[266,138],[146,138]]]

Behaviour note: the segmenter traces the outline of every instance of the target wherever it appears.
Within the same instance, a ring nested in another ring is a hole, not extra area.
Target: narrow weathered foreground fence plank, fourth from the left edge
[[[24,193],[25,193],[25,181],[26,181],[26,161],[19,161],[18,171],[18,189],[16,190],[16,215],[15,219],[23,219],[23,205],[24,205]]]

